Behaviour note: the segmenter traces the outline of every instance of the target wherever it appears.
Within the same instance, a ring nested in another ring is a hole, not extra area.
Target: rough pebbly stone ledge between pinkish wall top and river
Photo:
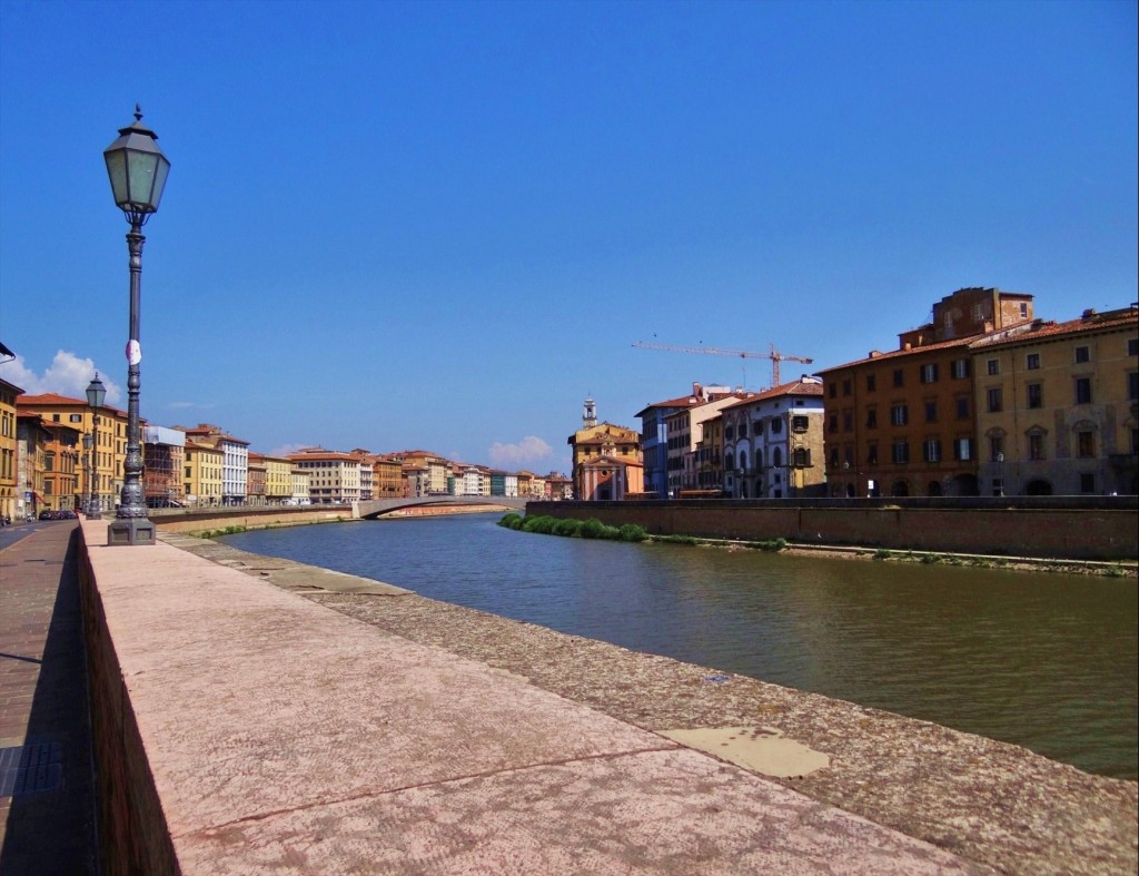
[[[710,730],[737,728],[712,739],[711,753],[726,759],[749,743],[797,744],[802,756],[780,761],[796,771],[775,775],[762,759],[754,771],[1006,873],[1136,871],[1139,786],[1133,781],[1092,776],[1025,748],[715,668],[385,591],[384,584],[351,575],[200,539],[174,543],[670,738],[695,731],[706,745]],[[361,588],[370,595],[361,595]],[[821,758],[826,764],[820,767]]]

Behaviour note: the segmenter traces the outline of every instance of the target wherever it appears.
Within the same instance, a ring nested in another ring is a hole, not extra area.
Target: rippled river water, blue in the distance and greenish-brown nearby
[[[301,526],[233,547],[1139,772],[1134,579],[535,535],[493,514]]]

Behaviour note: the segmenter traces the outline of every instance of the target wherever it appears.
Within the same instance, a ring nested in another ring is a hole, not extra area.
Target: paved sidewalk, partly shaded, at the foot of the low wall
[[[96,874],[79,530],[28,526],[0,547],[0,874]]]

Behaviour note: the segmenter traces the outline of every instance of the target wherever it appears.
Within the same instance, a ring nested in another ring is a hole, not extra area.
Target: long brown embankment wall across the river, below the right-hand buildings
[[[526,513],[596,517],[612,526],[634,523],[654,535],[787,539],[806,545],[1057,559],[1130,560],[1139,556],[1136,497],[570,501],[531,502]]]

